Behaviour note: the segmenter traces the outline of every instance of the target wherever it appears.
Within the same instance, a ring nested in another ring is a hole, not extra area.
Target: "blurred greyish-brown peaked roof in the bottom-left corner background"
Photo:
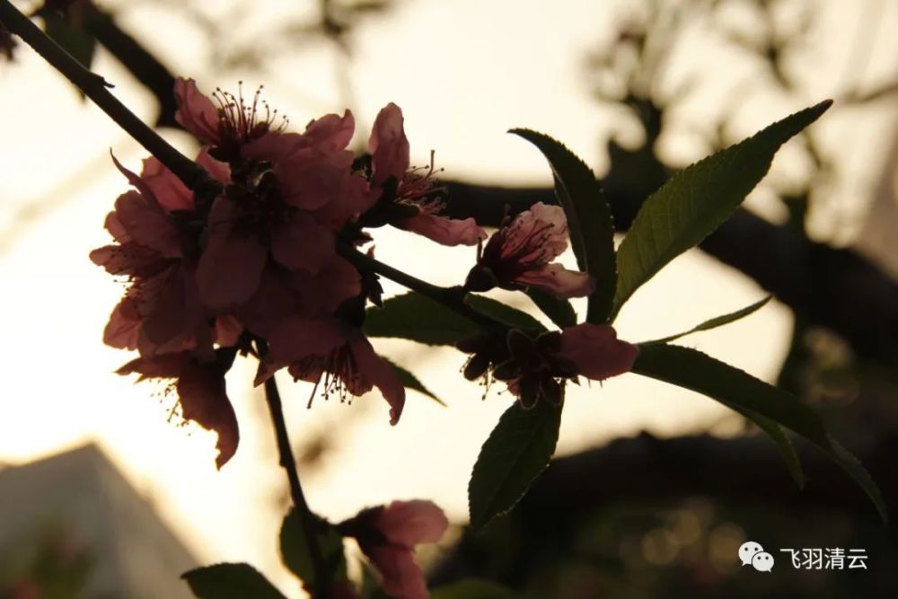
[[[48,529],[90,554],[84,596],[192,597],[197,559],[96,445],[0,471],[0,574]]]

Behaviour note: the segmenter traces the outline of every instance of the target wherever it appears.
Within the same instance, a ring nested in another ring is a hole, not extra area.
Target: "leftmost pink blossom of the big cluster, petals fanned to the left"
[[[206,154],[198,162],[222,174],[222,165]],[[116,243],[92,251],[91,260],[128,277],[130,286],[103,340],[144,356],[198,344],[211,350],[217,333],[209,328],[211,314],[199,301],[194,277],[198,239],[191,224],[192,194],[154,158],[145,161],[141,177],[117,165],[137,190],[120,196],[106,218]]]

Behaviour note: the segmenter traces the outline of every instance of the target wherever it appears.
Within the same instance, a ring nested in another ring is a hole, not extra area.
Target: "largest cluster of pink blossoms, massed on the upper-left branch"
[[[485,233],[472,219],[439,216],[432,169],[409,171],[394,104],[378,115],[360,166],[347,150],[349,111],[291,133],[258,91],[207,97],[179,79],[175,96],[176,118],[203,145],[197,163],[220,185],[210,197],[155,158],[139,175],[116,163],[133,189],[106,219],[114,243],[91,259],[128,280],[104,341],[140,356],[119,373],[172,381],[180,416],[217,432],[219,467],[239,438],[224,378],[237,353],[260,357],[257,384],[286,368],[341,400],[376,386],[396,424],[404,387],[359,329],[376,284],[339,256],[338,240],[368,241],[363,226],[375,220],[447,244]]]

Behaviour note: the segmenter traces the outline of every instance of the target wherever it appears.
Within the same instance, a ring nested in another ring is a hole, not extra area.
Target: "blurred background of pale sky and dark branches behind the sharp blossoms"
[[[581,155],[626,223],[669,172],[835,99],[778,154],[746,212],[641,289],[617,328],[631,341],[662,337],[773,293],[760,313],[682,342],[800,394],[887,496],[896,489],[896,0],[97,8],[79,25],[80,40],[101,42],[92,67],[181,149],[194,145],[172,127],[170,80],[145,75],[153,61],[207,91],[264,84],[294,128],[349,108],[359,151],[377,110],[394,101],[413,163],[436,150],[450,207],[486,222],[506,201],[520,209],[550,197],[541,155],[508,128],[543,131]],[[144,151],[30,48],[0,63],[0,86],[0,460],[12,468],[95,443],[198,563],[249,561],[287,596],[303,596],[277,555],[286,481],[253,366],[229,374],[241,448],[216,471],[215,437],[170,423],[172,400],[113,374],[129,357],[101,344],[122,288],[87,254],[107,242],[103,217],[127,187],[109,153],[136,169]],[[387,230],[376,247],[381,260],[441,284],[458,283],[474,260],[472,250]],[[310,503],[332,520],[395,498],[444,507],[457,526],[421,556],[437,582],[487,577],[520,596],[571,598],[898,592],[894,528],[834,465],[800,447],[811,482],[799,492],[742,418],[632,374],[570,390],[561,459],[513,515],[467,535],[471,466],[509,396],[494,387],[484,398],[462,379],[456,352],[375,347],[447,407],[412,392],[390,427],[376,392],[306,410],[311,386],[283,380],[300,471]],[[747,571],[736,556],[745,540],[768,551],[864,548],[868,569],[802,571],[775,555],[772,573]],[[0,573],[21,561],[16,547],[0,550]]]

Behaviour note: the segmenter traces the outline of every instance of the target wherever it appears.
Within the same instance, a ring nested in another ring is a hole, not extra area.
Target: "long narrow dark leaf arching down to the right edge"
[[[746,410],[749,418],[769,418],[804,436],[841,465],[864,489],[883,520],[888,519],[876,482],[857,458],[832,439],[814,410],[794,395],[700,351],[673,345],[641,346],[633,372],[700,392],[734,410]]]

